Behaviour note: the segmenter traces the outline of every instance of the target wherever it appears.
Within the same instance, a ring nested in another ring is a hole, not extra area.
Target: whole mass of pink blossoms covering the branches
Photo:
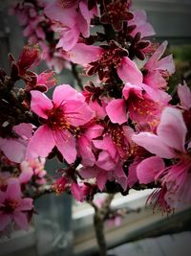
[[[38,62],[36,47],[25,47],[18,61],[10,56],[11,81],[22,79],[26,85],[17,94],[22,107],[15,106],[23,115],[3,115],[0,128],[2,155],[20,168],[17,181],[2,173],[0,214],[6,224],[1,230],[10,221],[26,226],[21,220],[32,204],[22,198],[18,184],[45,184],[44,158],[53,156],[68,165],[53,183],[57,194],[70,191],[83,201],[97,192],[127,195],[131,188],[144,187],[156,188],[149,201],[166,213],[190,205],[191,91],[185,81],[179,84],[180,102],[171,104],[167,85],[175,64],[172,55],[163,57],[167,42],[152,41],[155,32],[146,13],[134,11],[129,0],[35,2],[24,1],[25,12],[15,7],[25,34],[33,38],[35,33],[34,41],[44,42],[35,12],[40,5],[58,36],[54,51],[80,65],[94,83],[87,82],[82,92],[58,85],[51,100],[45,92],[55,85],[53,71],[37,75],[29,70]],[[1,83],[6,86],[3,72]],[[10,101],[2,99],[4,105]],[[13,190],[17,194],[11,196]]]

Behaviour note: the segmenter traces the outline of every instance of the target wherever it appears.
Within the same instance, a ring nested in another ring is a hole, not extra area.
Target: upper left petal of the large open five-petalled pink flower
[[[32,102],[31,108],[32,111],[45,119],[48,119],[47,110],[53,108],[52,101],[43,93],[39,91],[31,91],[32,94]]]

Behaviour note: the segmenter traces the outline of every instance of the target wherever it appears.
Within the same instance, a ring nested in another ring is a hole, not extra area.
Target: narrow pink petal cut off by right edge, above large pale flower
[[[189,109],[191,107],[191,91],[185,81],[183,82],[183,85],[179,84],[178,94],[181,105],[185,109]]]

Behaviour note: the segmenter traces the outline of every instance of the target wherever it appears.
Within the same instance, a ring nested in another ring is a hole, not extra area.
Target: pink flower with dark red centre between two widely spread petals
[[[108,69],[114,65],[121,80],[133,84],[142,82],[142,74],[136,63],[128,58],[127,51],[118,47],[115,42],[111,42],[107,50],[99,46],[78,43],[68,55],[74,63],[88,66],[87,75],[89,76],[97,73],[99,79],[103,80]]]

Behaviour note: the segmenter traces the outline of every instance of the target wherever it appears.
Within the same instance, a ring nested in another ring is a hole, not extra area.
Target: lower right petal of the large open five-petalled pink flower
[[[70,133],[70,131],[56,130],[53,134],[55,139],[55,146],[58,151],[61,152],[64,159],[69,163],[74,163],[76,159],[76,149],[75,149],[75,139],[74,136]]]

